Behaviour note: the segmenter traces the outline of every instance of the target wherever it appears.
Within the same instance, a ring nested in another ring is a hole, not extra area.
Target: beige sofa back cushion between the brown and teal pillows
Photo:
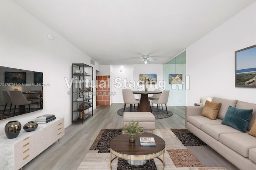
[[[221,103],[221,107],[218,113],[217,118],[223,119],[225,117],[225,114],[228,110],[229,106],[236,106],[237,100],[229,100],[229,99],[221,99],[221,98],[212,98],[212,102],[214,103]]]

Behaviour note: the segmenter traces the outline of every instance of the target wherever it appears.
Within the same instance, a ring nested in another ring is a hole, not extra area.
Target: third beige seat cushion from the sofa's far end
[[[256,138],[248,133],[222,133],[220,142],[246,158],[249,150],[256,148]]]

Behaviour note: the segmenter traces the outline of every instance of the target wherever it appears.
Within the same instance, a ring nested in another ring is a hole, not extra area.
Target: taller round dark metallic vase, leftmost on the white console
[[[4,127],[5,135],[9,138],[16,138],[20,134],[21,124],[19,121],[9,121]]]

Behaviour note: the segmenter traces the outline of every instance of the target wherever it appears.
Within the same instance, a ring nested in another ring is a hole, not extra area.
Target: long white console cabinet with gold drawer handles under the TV
[[[23,125],[22,125],[23,127]],[[64,118],[38,124],[32,132],[21,129],[18,137],[0,136],[0,170],[18,170],[55,143],[65,133]]]

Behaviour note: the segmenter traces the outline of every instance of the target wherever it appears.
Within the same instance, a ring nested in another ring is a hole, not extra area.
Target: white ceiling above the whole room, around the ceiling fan
[[[163,64],[256,0],[13,0],[99,64]]]

